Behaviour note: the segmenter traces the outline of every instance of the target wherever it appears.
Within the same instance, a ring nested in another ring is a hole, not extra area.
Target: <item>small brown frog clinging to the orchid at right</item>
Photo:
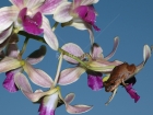
[[[107,81],[104,82],[105,91],[111,92],[114,91],[119,84],[127,85],[125,81],[129,79],[131,76],[133,76],[137,67],[132,65],[128,65],[127,62],[123,62],[119,66],[116,66],[110,77]]]

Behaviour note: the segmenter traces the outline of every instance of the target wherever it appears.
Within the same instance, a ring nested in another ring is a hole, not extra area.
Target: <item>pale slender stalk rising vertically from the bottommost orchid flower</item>
[[[59,78],[59,73],[60,73],[60,68],[61,68],[61,64],[62,64],[62,58],[63,58],[63,55],[61,53],[60,54],[60,57],[59,57],[59,62],[58,62],[58,68],[57,68],[57,74],[56,74],[56,78],[55,78],[55,81],[54,81],[54,88],[56,87],[56,84],[58,82],[58,78]]]

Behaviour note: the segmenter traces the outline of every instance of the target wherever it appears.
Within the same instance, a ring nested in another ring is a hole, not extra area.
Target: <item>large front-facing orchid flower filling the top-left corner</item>
[[[45,14],[52,14],[64,0],[10,0],[13,5],[0,9],[0,44],[11,34],[25,31],[28,34],[44,33],[46,43],[55,50],[58,41]]]

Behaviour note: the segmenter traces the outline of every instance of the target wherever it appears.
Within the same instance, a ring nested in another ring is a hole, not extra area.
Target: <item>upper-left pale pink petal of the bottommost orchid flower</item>
[[[30,92],[30,93],[33,92],[27,78],[23,73],[21,72],[15,73],[14,81],[17,88],[21,89],[22,91]]]

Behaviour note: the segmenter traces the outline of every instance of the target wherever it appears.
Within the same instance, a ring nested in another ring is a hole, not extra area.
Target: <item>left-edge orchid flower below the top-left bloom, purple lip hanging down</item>
[[[0,61],[0,72],[7,72],[5,80],[3,82],[3,87],[9,92],[16,92],[19,89],[14,83],[14,77],[16,73],[21,73],[24,70],[30,79],[35,83],[39,81],[39,85],[42,85],[42,81],[49,80],[50,78],[40,69],[35,69],[32,65],[39,62],[46,54],[46,47],[40,46],[39,49],[32,53],[25,60],[19,59],[20,51],[17,49],[16,44],[9,44],[7,47],[5,57]],[[48,88],[48,83],[46,83],[45,88]],[[50,85],[49,85],[50,87]]]

